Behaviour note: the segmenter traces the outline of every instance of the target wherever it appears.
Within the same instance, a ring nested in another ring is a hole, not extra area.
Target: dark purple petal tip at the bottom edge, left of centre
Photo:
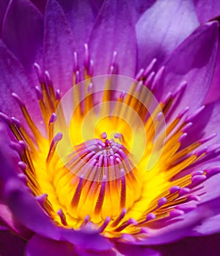
[[[77,255],[73,244],[67,242],[59,242],[51,239],[43,238],[40,235],[34,235],[26,245],[26,256],[75,256]]]

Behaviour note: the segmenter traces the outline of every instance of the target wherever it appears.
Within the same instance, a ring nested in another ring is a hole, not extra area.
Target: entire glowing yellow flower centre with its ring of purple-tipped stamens
[[[54,91],[48,72],[43,76],[35,65],[46,138],[15,93],[32,136],[18,119],[0,113],[18,141],[12,143],[21,156],[18,165],[33,196],[57,225],[93,225],[108,237],[128,241],[133,239],[129,234],[145,238],[154,221],[197,207],[191,188],[216,169],[190,173],[187,168],[211,154],[201,146],[215,135],[181,149],[203,107],[188,117],[186,107],[166,127],[164,118],[169,119],[186,83],[158,103],[151,91],[163,68],[155,74],[155,60],[134,80],[113,75],[116,54],[107,76],[92,77],[89,60],[84,64],[87,79],[80,82],[74,56],[75,85],[64,97]],[[183,170],[186,175],[176,178]]]

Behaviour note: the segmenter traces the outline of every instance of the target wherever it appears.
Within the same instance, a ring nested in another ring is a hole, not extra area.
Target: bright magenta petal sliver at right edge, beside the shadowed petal
[[[217,59],[216,59],[216,68],[213,75],[213,81],[208,91],[208,95],[205,99],[205,104],[209,102],[214,102],[217,99],[220,99],[220,48],[218,50]]]

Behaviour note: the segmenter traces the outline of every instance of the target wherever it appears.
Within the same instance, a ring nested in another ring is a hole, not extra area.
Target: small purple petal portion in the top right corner
[[[220,15],[220,1],[194,0],[199,22],[204,23]]]

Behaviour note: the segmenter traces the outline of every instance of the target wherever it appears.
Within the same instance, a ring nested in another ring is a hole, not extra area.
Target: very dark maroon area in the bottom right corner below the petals
[[[175,243],[156,246],[163,256],[216,256],[219,253],[220,235],[210,235],[200,238],[185,238]]]

